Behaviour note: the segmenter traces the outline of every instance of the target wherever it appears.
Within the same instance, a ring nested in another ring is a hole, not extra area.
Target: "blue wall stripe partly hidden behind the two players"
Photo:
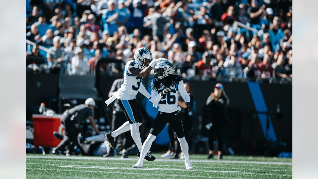
[[[151,80],[151,78],[150,78],[150,80]],[[151,88],[149,88],[149,87],[150,87],[150,81],[149,81],[147,91],[149,92],[149,94],[151,94]],[[153,104],[146,97],[144,98],[143,104],[145,106],[145,110],[146,110],[148,116],[154,120],[156,118],[157,113],[158,113],[158,108],[154,108]],[[155,143],[157,145],[168,145],[169,142],[170,142],[170,139],[168,136],[168,128],[167,128],[167,125],[165,125],[163,130],[156,137]]]

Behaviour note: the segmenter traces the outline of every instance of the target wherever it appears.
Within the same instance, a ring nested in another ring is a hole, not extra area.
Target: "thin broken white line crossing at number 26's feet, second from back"
[[[41,160],[41,161],[57,161],[57,160]],[[67,162],[67,160],[59,160],[59,162]],[[72,161],[74,163],[83,163],[82,161]],[[89,161],[86,163],[96,163],[96,164],[119,164],[119,165],[135,165],[135,163],[115,163],[115,162],[93,162]],[[58,165],[58,164],[55,164]],[[159,164],[143,164],[144,166],[163,166],[163,167],[184,167],[184,165],[159,165]],[[252,165],[251,165],[252,166]],[[194,166],[195,168],[213,168],[213,167],[201,167],[201,166]],[[215,168],[215,167],[214,167]],[[222,169],[237,169],[237,168],[226,168],[226,167],[221,167]],[[280,171],[280,172],[291,172],[291,170],[274,170],[274,169],[259,169],[259,168],[252,168],[249,170],[257,170],[257,171]]]

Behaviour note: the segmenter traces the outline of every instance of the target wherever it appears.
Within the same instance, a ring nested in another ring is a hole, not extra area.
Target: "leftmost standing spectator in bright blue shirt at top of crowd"
[[[105,10],[105,13],[102,16],[104,30],[107,30],[110,36],[113,36],[114,32],[118,29],[118,25],[116,22],[118,18],[118,12],[117,10],[115,10],[115,5],[115,1],[108,1],[108,9]]]

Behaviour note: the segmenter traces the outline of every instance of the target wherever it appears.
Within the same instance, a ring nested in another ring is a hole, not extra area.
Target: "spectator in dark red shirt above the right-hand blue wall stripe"
[[[255,76],[260,76],[263,79],[269,79],[273,76],[273,68],[271,65],[271,59],[268,54],[264,54],[263,61],[257,63],[255,69]]]

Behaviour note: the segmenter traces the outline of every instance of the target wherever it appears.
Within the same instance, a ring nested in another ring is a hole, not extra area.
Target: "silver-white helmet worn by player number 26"
[[[172,70],[171,63],[167,60],[161,60],[158,61],[155,68],[154,68],[154,76],[156,79],[162,79],[164,77],[167,77],[169,74],[171,74],[174,70]]]

